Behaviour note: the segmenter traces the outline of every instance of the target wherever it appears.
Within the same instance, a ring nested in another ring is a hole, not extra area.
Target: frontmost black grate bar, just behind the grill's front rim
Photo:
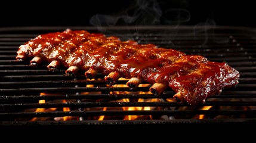
[[[21,113],[0,113],[0,117],[8,116],[10,118],[17,118],[17,117],[64,117],[64,116],[128,116],[128,115],[152,115],[152,116],[174,116],[174,115],[198,115],[204,114],[206,116],[217,116],[217,115],[247,115],[247,116],[254,116],[256,110],[186,110],[186,111],[52,111],[52,112],[42,112],[42,113],[35,113],[35,112],[21,112]]]

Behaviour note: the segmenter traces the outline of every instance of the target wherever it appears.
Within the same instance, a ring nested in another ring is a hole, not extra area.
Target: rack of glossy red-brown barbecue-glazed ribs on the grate
[[[239,72],[227,63],[87,30],[38,35],[18,48],[16,59],[27,58],[32,58],[31,64],[47,61],[49,69],[63,65],[66,74],[84,70],[85,77],[94,78],[101,73],[109,85],[121,77],[129,79],[131,88],[144,81],[152,84],[149,90],[155,95],[169,87],[176,92],[174,99],[179,104],[201,104],[239,83]]]

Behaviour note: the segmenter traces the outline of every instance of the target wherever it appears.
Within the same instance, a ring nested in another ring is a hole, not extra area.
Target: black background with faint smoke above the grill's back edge
[[[0,26],[216,25],[255,27],[253,1],[2,1]]]

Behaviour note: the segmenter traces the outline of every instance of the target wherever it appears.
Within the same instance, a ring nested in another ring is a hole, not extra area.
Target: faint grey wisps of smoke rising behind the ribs
[[[183,24],[190,20],[187,1],[133,1],[115,14],[95,14],[92,26]]]

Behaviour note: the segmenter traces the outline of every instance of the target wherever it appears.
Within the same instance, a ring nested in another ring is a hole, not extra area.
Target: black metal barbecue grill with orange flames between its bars
[[[186,54],[203,55],[210,61],[224,61],[240,72],[236,87],[223,89],[205,104],[179,105],[175,94],[149,93],[143,83],[128,88],[126,79],[108,86],[101,74],[94,80],[84,71],[65,76],[65,67],[48,70],[47,64],[30,66],[29,61],[16,61],[18,46],[42,33],[88,30],[119,36],[122,41],[154,43]],[[256,30],[232,26],[115,26],[115,27],[4,27],[0,29],[0,125],[34,126],[174,126],[209,123],[256,123]],[[91,86],[88,86],[91,85]],[[141,94],[143,93],[143,94]],[[127,100],[128,99],[128,100]],[[140,101],[140,99],[143,99]],[[39,102],[45,101],[45,103]],[[150,107],[151,110],[123,110],[128,107]],[[210,107],[204,110],[203,107]],[[35,111],[38,108],[46,111]],[[55,110],[49,110],[55,108]],[[69,108],[69,110],[63,110]],[[105,108],[105,110],[103,110]],[[202,119],[198,117],[203,115]],[[69,116],[71,120],[60,117]],[[104,116],[103,120],[99,120]],[[124,119],[139,116],[136,119]],[[61,120],[56,120],[60,118]],[[33,121],[36,118],[38,120]]]

